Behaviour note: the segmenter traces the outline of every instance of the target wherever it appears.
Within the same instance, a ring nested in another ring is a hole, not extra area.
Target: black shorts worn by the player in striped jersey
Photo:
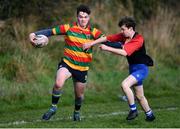
[[[86,83],[87,81],[87,71],[79,71],[79,70],[75,70],[72,69],[71,67],[69,67],[64,61],[61,61],[58,64],[58,69],[65,67],[69,70],[69,72],[72,74],[72,78],[75,82],[82,82],[82,83]]]

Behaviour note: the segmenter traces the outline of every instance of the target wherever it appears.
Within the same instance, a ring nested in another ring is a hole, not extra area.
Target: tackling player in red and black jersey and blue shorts
[[[138,116],[137,107],[134,100],[135,95],[145,112],[146,120],[153,121],[155,116],[151,110],[146,97],[144,96],[143,80],[148,76],[148,66],[153,65],[151,57],[146,54],[144,38],[135,31],[135,20],[132,17],[124,17],[119,21],[120,33],[101,37],[95,41],[83,45],[83,49],[89,49],[93,45],[110,42],[121,42],[122,48],[113,48],[101,44],[100,48],[118,55],[125,56],[129,63],[129,76],[122,82],[122,90],[127,96],[129,104],[129,114],[127,120],[133,120]]]

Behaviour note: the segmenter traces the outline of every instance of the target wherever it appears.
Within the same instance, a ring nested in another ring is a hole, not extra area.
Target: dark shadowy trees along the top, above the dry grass
[[[158,5],[176,8],[177,11],[180,5],[179,0],[0,0],[0,19],[26,17],[30,14],[43,17],[57,13],[53,11],[56,8],[63,12],[67,11],[66,8],[74,8],[80,3],[86,3],[90,6],[94,6],[96,3],[107,4],[114,10],[117,4],[123,4],[128,10],[133,11],[137,19],[150,18],[156,12]]]

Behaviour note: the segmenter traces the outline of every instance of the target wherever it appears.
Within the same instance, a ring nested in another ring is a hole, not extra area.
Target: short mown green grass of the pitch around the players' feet
[[[139,110],[139,116],[134,121],[127,122],[127,103],[120,100],[109,101],[106,103],[84,104],[82,108],[83,119],[81,122],[71,120],[73,105],[61,106],[57,114],[50,121],[41,121],[42,114],[46,109],[27,109],[16,112],[2,113],[0,117],[0,127],[38,127],[38,128],[163,128],[180,127],[177,121],[180,116],[180,107],[178,101],[167,97],[160,99],[149,99],[157,119],[154,122],[146,122],[145,115]],[[176,106],[174,105],[176,104]],[[175,108],[170,108],[175,107]],[[140,109],[140,107],[138,107]],[[113,114],[114,113],[114,114]],[[167,121],[168,120],[168,121]],[[23,121],[25,123],[23,123]],[[14,123],[13,123],[14,122]],[[17,123],[15,123],[17,122]],[[18,123],[19,122],[19,123]]]

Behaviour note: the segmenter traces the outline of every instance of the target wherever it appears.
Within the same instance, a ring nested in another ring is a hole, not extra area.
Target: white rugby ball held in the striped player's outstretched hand
[[[36,35],[34,38],[34,43],[36,47],[44,47],[48,44],[49,39],[45,35]]]

